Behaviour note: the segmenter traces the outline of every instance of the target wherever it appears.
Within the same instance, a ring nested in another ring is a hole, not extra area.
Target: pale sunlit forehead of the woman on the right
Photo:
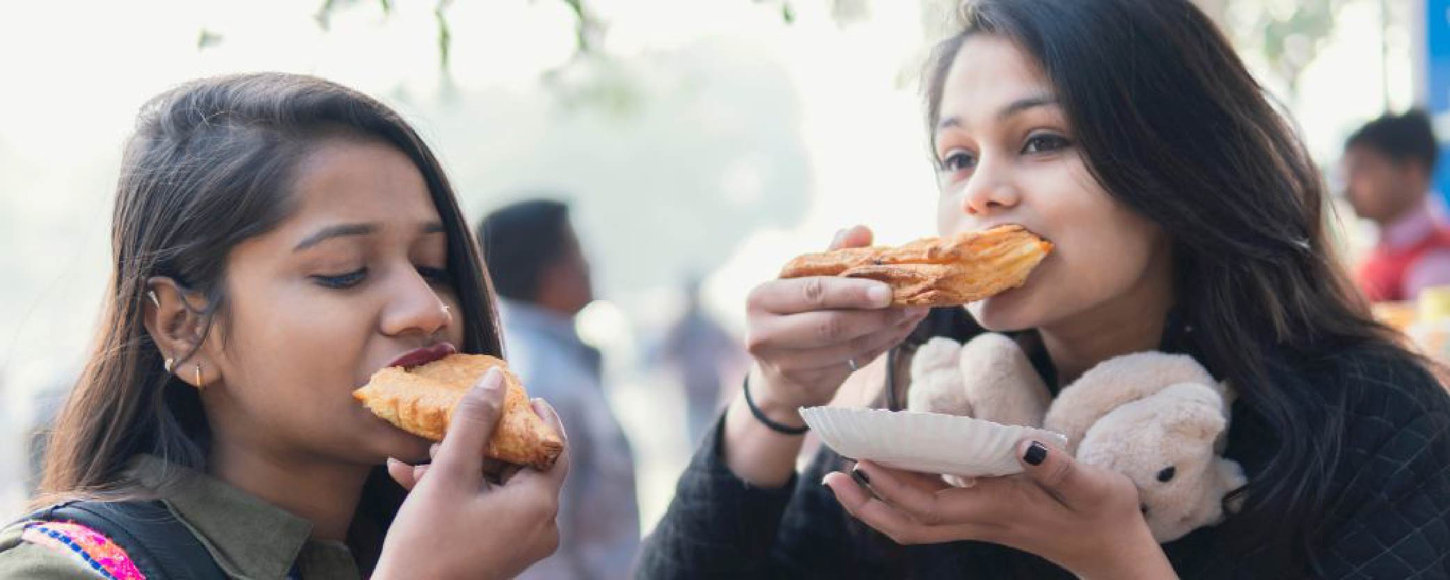
[[[969,126],[986,123],[1012,102],[1051,94],[1041,67],[1015,42],[996,35],[973,35],[961,44],[947,70],[941,119],[958,117]]]

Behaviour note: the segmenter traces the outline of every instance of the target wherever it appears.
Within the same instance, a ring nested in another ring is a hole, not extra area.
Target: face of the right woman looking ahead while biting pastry
[[[985,328],[1070,323],[1167,283],[1161,231],[1089,174],[1053,86],[1014,42],[966,41],[934,141],[941,235],[1019,223],[1056,245],[1025,286],[969,306]]]

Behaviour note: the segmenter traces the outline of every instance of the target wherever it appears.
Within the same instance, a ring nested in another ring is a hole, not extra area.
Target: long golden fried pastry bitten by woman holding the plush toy
[[[1022,286],[1051,249],[1027,228],[1006,225],[898,248],[806,254],[786,264],[780,277],[871,278],[892,286],[892,306],[957,306]]]

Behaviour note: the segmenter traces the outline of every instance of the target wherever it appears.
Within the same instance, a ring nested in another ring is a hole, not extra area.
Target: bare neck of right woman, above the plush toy
[[[1109,303],[1038,328],[1043,348],[1057,368],[1057,386],[1072,384],[1112,357],[1159,348],[1172,304],[1172,284],[1144,280]]]

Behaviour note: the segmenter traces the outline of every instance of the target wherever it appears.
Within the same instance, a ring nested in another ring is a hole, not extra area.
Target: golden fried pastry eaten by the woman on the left
[[[503,416],[499,418],[499,425],[489,439],[486,455],[515,465],[550,468],[564,451],[564,442],[554,428],[534,413],[519,377],[494,357],[451,354],[407,370],[387,367],[352,392],[352,397],[399,429],[442,441],[454,406],[493,367],[503,371],[503,383],[509,393],[503,402]]]

